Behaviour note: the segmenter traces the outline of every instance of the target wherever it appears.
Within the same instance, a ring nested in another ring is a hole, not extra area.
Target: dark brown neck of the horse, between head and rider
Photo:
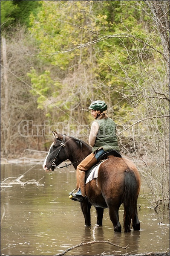
[[[70,140],[71,141],[71,140]],[[81,160],[87,157],[91,152],[91,148],[86,143],[76,143],[72,141],[69,145],[69,160],[76,169]]]

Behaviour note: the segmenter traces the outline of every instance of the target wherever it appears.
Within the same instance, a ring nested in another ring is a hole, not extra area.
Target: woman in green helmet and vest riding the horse
[[[90,104],[89,109],[91,109],[91,115],[95,119],[92,122],[89,134],[89,144],[92,146],[92,153],[77,166],[77,192],[75,194],[72,192],[69,193],[72,200],[79,202],[82,202],[86,196],[86,171],[94,166],[98,162],[99,157],[106,151],[116,150],[119,152],[116,124],[105,112],[107,110],[106,103],[97,100]]]

